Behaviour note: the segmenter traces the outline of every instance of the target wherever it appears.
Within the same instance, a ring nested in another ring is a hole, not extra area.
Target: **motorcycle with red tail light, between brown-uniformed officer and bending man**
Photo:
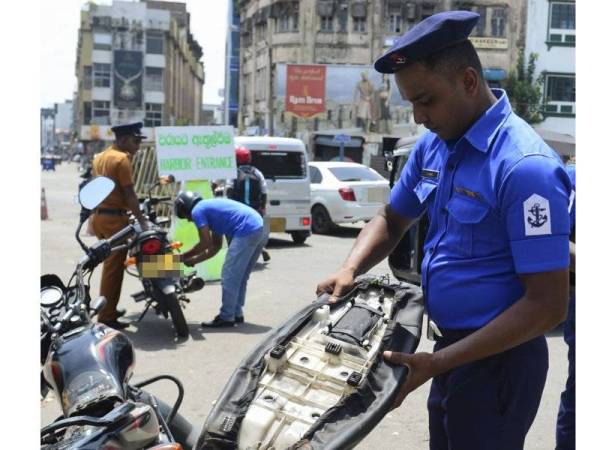
[[[143,290],[132,294],[135,302],[146,302],[146,307],[142,315],[137,319],[140,322],[148,310],[154,308],[157,315],[163,315],[165,319],[171,316],[171,321],[180,338],[186,338],[189,335],[189,328],[182,308],[189,303],[189,298],[185,295],[204,287],[204,280],[196,276],[195,272],[188,275],[182,275],[177,269],[169,271],[169,276],[158,274],[147,275],[144,270],[144,264],[150,261],[155,266],[173,265],[176,258],[173,258],[174,252],[178,252],[182,246],[180,242],[170,242],[167,237],[167,227],[170,224],[169,218],[158,218],[155,207],[160,202],[171,201],[170,197],[152,197],[152,191],[161,184],[174,182],[173,176],[162,177],[154,183],[148,191],[148,197],[141,199],[141,211],[147,218],[151,227],[147,231],[142,231],[139,223],[134,221],[135,238],[129,252],[127,260],[127,273],[139,278],[142,282]],[[164,263],[164,264],[163,264]],[[136,271],[132,268],[135,267]],[[169,270],[165,268],[164,272]]]

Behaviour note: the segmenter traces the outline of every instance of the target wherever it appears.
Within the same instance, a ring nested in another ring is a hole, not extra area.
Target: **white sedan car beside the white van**
[[[371,220],[389,202],[389,182],[367,166],[313,161],[308,167],[314,233],[327,233],[335,224]]]

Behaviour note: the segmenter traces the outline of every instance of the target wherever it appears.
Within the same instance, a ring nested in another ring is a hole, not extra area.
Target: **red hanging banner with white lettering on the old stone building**
[[[285,111],[311,118],[325,112],[326,66],[287,66]]]

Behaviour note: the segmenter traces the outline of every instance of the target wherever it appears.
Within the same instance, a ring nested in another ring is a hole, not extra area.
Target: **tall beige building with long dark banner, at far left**
[[[189,21],[177,2],[115,0],[81,11],[74,102],[80,140],[107,140],[111,125],[127,121],[149,129],[200,123],[202,48]]]

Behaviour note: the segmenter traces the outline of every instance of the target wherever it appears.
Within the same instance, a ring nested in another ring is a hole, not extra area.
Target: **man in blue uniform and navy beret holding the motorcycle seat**
[[[435,14],[376,61],[429,132],[390,204],[317,287],[335,301],[427,212],[422,285],[434,352],[384,356],[409,368],[394,407],[433,378],[432,450],[523,448],[548,370],[543,334],[567,310],[571,183],[506,93],[485,83],[468,40],[478,19]]]

